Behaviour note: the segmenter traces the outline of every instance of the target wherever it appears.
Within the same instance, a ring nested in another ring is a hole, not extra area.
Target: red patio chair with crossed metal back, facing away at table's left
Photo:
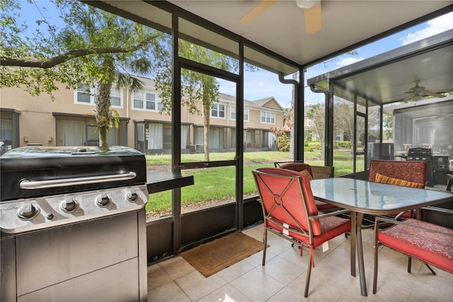
[[[311,267],[314,267],[314,248],[350,230],[350,220],[338,217],[348,211],[318,212],[306,175],[279,168],[260,168],[252,173],[263,207],[262,264],[265,265],[268,231],[299,246],[301,257],[302,247],[309,247],[304,291],[304,297],[307,297]]]

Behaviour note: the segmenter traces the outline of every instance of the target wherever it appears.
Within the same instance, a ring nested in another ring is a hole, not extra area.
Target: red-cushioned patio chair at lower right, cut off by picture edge
[[[422,220],[408,218],[403,222],[389,218],[375,220],[393,224],[384,230],[374,228],[374,274],[373,293],[377,291],[379,243],[408,255],[408,273],[411,272],[411,259],[416,258],[453,274],[453,230]],[[432,271],[432,269],[427,267]]]

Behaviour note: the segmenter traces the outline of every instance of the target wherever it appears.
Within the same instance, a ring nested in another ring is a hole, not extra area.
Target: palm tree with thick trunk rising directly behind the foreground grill
[[[144,76],[151,71],[149,49],[160,34],[112,13],[79,3],[71,4],[65,19],[67,27],[59,35],[65,49],[101,50],[67,64],[83,74],[84,84],[96,86],[94,115],[99,146],[108,147],[108,128],[118,125],[117,113],[110,106],[112,86],[115,83],[116,89],[143,89],[143,82],[135,75]]]

